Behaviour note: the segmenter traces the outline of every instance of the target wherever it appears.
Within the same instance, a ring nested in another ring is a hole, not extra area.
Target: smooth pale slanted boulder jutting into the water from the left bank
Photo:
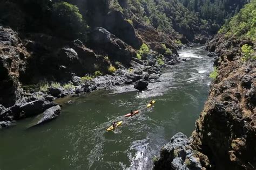
[[[50,122],[53,119],[57,118],[60,115],[60,106],[56,105],[51,107],[43,112],[43,114],[38,115],[34,120],[31,127]]]

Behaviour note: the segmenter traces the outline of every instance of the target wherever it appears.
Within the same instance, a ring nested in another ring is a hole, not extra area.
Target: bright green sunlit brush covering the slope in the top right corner
[[[230,22],[219,30],[225,33],[226,37],[236,36],[238,38],[248,38],[256,40],[256,1],[246,4],[245,8],[234,16]]]

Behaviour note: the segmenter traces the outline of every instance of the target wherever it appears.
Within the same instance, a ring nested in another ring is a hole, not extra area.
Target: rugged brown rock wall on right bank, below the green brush
[[[189,144],[194,152],[206,155],[203,159],[210,161],[210,166],[202,167],[256,167],[256,61],[242,60],[241,47],[245,44],[253,46],[255,50],[252,41],[227,39],[223,34],[218,34],[207,43],[208,51],[218,55],[214,61],[218,76],[210,86],[210,95]],[[174,158],[163,159],[165,152],[164,147],[156,168],[171,167]],[[203,161],[200,157],[199,160]],[[180,159],[178,162],[182,163]],[[183,164],[178,165],[183,167]]]

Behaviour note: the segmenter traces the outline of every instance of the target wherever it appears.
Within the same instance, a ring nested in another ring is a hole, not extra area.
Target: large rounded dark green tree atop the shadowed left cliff
[[[59,36],[67,39],[76,39],[85,35],[87,26],[75,5],[68,2],[53,4],[51,19],[52,26]]]

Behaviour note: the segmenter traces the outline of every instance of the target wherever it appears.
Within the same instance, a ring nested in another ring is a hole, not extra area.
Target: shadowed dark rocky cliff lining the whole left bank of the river
[[[129,23],[109,3],[69,2],[80,11],[58,1],[0,1],[0,128],[36,115],[39,124],[56,118],[58,97],[120,84],[143,90],[161,67],[179,62],[169,34],[139,18]],[[59,10],[63,18],[52,23]],[[76,30],[83,18],[90,28]]]

